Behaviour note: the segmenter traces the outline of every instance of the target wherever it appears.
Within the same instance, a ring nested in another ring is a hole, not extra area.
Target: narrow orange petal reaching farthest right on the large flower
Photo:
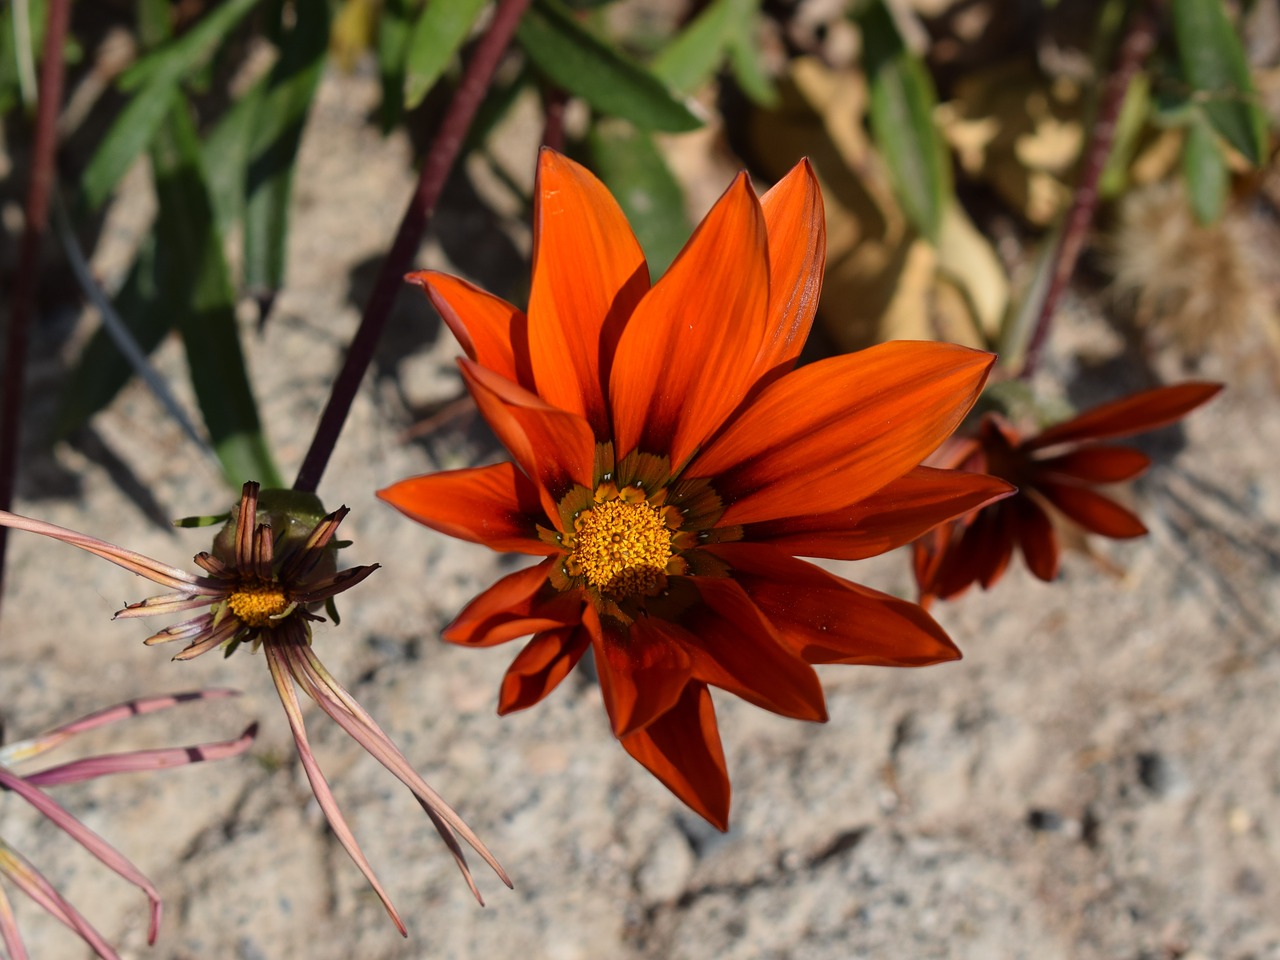
[[[799,557],[864,559],[1014,492],[984,474],[916,467],[841,509],[748,524],[742,539]]]

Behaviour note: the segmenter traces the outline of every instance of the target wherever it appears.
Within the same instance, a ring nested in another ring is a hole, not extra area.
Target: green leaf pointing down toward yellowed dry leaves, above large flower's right
[[[902,44],[883,3],[874,3],[859,24],[876,145],[902,210],[915,229],[937,244],[942,214],[951,202],[951,166],[933,125],[933,79]]]

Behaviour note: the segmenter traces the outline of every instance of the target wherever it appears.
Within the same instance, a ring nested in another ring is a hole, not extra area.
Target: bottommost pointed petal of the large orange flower
[[[694,813],[728,829],[724,749],[705,685],[690,684],[675,707],[623,739],[622,746]]]

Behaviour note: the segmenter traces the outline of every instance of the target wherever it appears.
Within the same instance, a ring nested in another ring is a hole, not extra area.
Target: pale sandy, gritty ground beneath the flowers
[[[411,189],[407,145],[362,123],[370,92],[361,79],[326,79],[300,174],[289,287],[265,334],[247,332],[287,475]],[[448,250],[431,242],[422,262],[481,280],[518,274],[524,225],[495,233],[461,212],[463,195],[442,215]],[[127,243],[140,220],[145,200],[115,211],[109,230]],[[101,256],[110,280],[110,250]],[[33,434],[74,317],[52,320],[32,370]],[[1078,399],[1149,385],[1110,328],[1079,308],[1053,349],[1048,374]],[[110,622],[150,585],[15,535],[0,621],[10,739],[197,686],[244,695],[134,721],[86,749],[230,737],[262,722],[237,760],[58,790],[163,891],[154,950],[137,891],[0,797],[0,836],[124,956],[1280,957],[1280,417],[1270,388],[1231,389],[1156,438],[1160,466],[1134,492],[1152,535],[1098,547],[1123,576],[1082,556],[1052,586],[1015,571],[992,594],[938,612],[963,662],[823,668],[824,726],[719,696],[735,788],[732,829],[719,835],[626,756],[589,680],[498,718],[513,648],[439,641],[440,626],[517,559],[419,527],[374,490],[498,456],[466,412],[426,439],[402,436],[457,396],[456,352],[406,297],[320,490],[352,508],[347,559],[384,566],[342,598],[343,623],[320,627],[316,649],[488,841],[516,890],[477,870],[489,905],[476,906],[407,791],[311,709],[324,769],[411,928],[402,941],[311,799],[264,660],[241,652],[170,663],[141,645],[145,625]],[[180,383],[175,344],[159,362]],[[51,453],[33,439],[18,508],[188,566],[201,532],[156,517],[225,507],[216,471],[137,387],[95,435]],[[842,572],[910,591],[902,554]],[[17,906],[33,956],[86,955],[37,909]]]

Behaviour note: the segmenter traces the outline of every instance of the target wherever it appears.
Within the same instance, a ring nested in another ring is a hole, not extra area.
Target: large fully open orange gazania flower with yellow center
[[[708,686],[824,721],[812,663],[959,657],[916,605],[794,554],[856,559],[1009,492],[920,467],[987,378],[987,353],[888,343],[792,370],[822,287],[808,163],[758,200],[741,174],[667,274],[599,180],[544,150],[529,312],[411,276],[453,330],[462,376],[515,462],[379,495],[497,550],[540,556],[444,636],[532,634],[499,713],[538,703],[594,650],[614,735],[724,829],[730,785]]]

